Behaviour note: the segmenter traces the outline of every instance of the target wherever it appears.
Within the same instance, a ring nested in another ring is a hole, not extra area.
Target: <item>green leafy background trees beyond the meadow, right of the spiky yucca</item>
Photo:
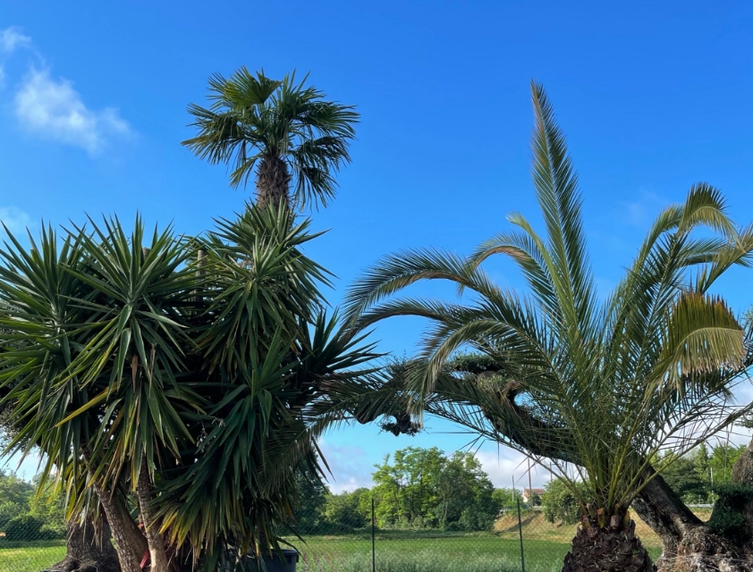
[[[732,467],[744,445],[701,443],[673,458],[664,480],[688,504],[713,503],[715,492],[731,483]],[[297,530],[306,534],[349,533],[370,526],[372,500],[380,528],[436,528],[447,531],[489,530],[504,512],[540,506],[547,521],[574,524],[580,519],[576,495],[561,479],[545,484],[546,492],[523,501],[521,491],[495,488],[470,452],[445,455],[437,447],[406,447],[375,465],[372,488],[333,493],[325,484],[300,477]],[[580,484],[585,490],[586,484]]]

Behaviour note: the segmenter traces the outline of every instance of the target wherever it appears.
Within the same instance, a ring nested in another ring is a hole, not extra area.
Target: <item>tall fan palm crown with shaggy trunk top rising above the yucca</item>
[[[304,87],[308,77],[297,83],[293,72],[278,81],[245,67],[229,80],[212,76],[212,105],[189,105],[199,134],[183,145],[212,164],[232,163],[233,187],[245,185],[257,167],[259,206],[326,206],[334,198],[333,172],[351,161],[359,114]]]

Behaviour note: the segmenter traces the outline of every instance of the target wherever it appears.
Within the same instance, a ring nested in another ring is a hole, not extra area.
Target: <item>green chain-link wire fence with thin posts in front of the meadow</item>
[[[365,504],[360,515],[343,511],[333,519],[317,510],[298,516],[296,534],[285,536],[300,552],[298,572],[557,572],[577,526],[525,502],[504,507],[481,530],[458,523],[379,526],[373,502]],[[701,517],[710,513],[696,510]],[[656,534],[642,522],[637,533],[656,559]],[[50,538],[38,523],[16,521],[0,534],[0,572],[40,572],[65,553],[65,540]]]

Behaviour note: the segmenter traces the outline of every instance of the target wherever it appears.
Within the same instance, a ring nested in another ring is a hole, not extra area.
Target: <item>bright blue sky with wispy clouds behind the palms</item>
[[[14,231],[139,210],[191,233],[239,210],[249,192],[228,189],[224,167],[180,141],[208,76],[241,65],[310,71],[362,114],[339,196],[313,214],[331,229],[309,252],[338,276],[333,305],[385,253],[468,252],[511,211],[538,220],[531,79],[568,135],[602,291],[658,209],[693,182],[718,186],[736,219],[753,221],[750,3],[5,0],[0,30],[0,219]],[[521,285],[509,265],[488,270]],[[739,310],[753,303],[750,278],[736,271],[720,285]],[[410,354],[420,331],[402,319],[376,335],[380,349]],[[467,441],[442,423],[430,429],[328,435],[334,489],[367,484],[385,452]],[[489,445],[480,454],[495,483],[522,475],[520,456]]]

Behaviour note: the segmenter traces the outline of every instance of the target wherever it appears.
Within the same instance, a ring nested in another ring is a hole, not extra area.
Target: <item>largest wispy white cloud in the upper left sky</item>
[[[90,110],[70,80],[31,70],[15,97],[15,113],[25,130],[96,154],[113,136],[131,133],[117,110]]]

